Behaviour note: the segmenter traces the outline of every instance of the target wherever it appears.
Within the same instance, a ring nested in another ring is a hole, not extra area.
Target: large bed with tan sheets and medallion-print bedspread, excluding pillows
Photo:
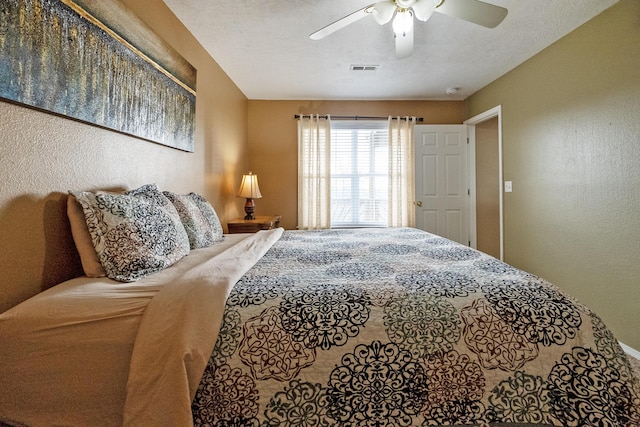
[[[10,425],[640,425],[595,313],[412,228],[226,235],[55,286],[0,339]]]

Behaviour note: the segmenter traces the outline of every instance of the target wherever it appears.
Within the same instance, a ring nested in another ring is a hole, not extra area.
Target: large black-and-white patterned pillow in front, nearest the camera
[[[189,238],[173,204],[155,184],[124,194],[71,192],[82,205],[107,276],[132,282],[189,253]]]

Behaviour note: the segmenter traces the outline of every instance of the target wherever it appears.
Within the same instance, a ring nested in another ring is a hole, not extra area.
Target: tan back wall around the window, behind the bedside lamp
[[[460,124],[461,101],[249,101],[249,165],[258,175],[262,199],[256,215],[282,215],[297,225],[298,131],[296,114],[423,117],[424,124]]]

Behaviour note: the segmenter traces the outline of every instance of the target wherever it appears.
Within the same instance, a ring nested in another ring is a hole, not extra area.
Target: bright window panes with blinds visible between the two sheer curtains
[[[387,121],[332,121],[331,227],[386,227],[388,193]]]

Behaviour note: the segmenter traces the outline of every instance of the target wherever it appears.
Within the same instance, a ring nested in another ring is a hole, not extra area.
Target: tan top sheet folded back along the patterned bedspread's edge
[[[259,231],[158,292],[144,314],[131,359],[125,426],[193,425],[191,401],[229,292],[282,232]]]

